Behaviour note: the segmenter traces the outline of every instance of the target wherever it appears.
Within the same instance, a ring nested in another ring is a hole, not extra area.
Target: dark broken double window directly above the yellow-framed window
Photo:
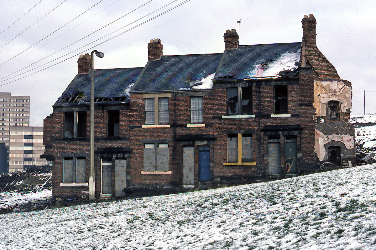
[[[252,87],[227,88],[227,114],[252,114]]]

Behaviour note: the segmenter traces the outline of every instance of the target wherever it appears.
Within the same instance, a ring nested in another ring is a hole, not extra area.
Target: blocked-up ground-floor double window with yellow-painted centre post
[[[227,135],[227,162],[253,162],[252,135]]]

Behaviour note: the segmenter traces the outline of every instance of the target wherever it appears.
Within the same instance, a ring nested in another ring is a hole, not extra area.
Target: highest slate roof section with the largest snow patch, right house
[[[296,71],[300,60],[301,42],[261,45],[239,45],[227,51],[216,78],[277,78]]]

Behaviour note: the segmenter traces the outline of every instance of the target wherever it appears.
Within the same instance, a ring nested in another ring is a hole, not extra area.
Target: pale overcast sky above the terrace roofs
[[[318,48],[334,64],[340,77],[352,82],[352,115],[364,112],[364,90],[366,112],[376,112],[374,0],[190,0],[133,28],[184,2],[152,0],[148,3],[149,1],[1,1],[0,85],[5,85],[0,86],[0,92],[30,96],[30,125],[43,126],[43,119],[52,113],[52,105],[77,74],[78,54],[90,53],[93,49],[104,52],[105,57],[94,59],[95,69],[143,67],[147,62],[147,43],[150,39],[161,39],[164,55],[220,53],[224,50],[223,34],[231,28],[235,28],[240,34],[241,45],[301,42],[303,15],[313,13],[317,21]],[[171,4],[163,7],[168,3]],[[94,4],[97,5],[92,7]],[[126,15],[143,4],[146,5]],[[33,6],[35,7],[32,9]],[[54,7],[56,9],[50,12]],[[161,7],[163,8],[158,10]],[[30,11],[26,13],[28,10]],[[151,12],[154,13],[143,18]],[[126,16],[110,24],[124,15]],[[137,21],[138,19],[140,20]],[[237,23],[239,19],[240,30]],[[39,21],[36,22],[37,20]],[[99,30],[105,25],[108,26]],[[6,29],[7,27],[9,28]],[[130,28],[133,29],[104,42]],[[25,31],[21,33],[23,30]],[[54,31],[56,32],[53,33]],[[97,32],[88,36],[94,31]],[[106,36],[108,34],[110,35]],[[83,38],[85,36],[88,37]],[[100,39],[102,37],[104,38]],[[79,39],[82,40],[78,41]],[[97,39],[100,40],[94,42]],[[104,43],[99,45],[101,42]],[[35,43],[37,44],[34,45]],[[91,44],[88,45],[89,43]],[[29,48],[30,46],[32,47]],[[63,49],[66,46],[68,47]],[[26,51],[23,52],[24,50]],[[21,54],[18,55],[19,53]],[[51,56],[47,57],[49,55]],[[59,59],[52,61],[56,58]],[[63,62],[59,63],[61,61]],[[30,64],[32,65],[27,67]],[[45,65],[41,66],[42,64]],[[56,65],[30,75],[53,64]],[[23,69],[24,67],[26,68]],[[34,69],[36,67],[38,68]],[[30,71],[16,76],[27,70]],[[13,76],[16,77],[12,78]],[[14,81],[23,76],[27,77]]]

